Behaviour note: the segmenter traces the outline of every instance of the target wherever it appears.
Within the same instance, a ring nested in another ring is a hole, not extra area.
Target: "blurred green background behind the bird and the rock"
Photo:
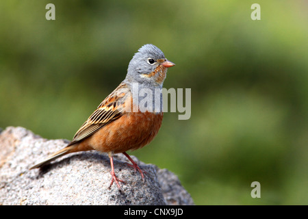
[[[164,87],[192,89],[192,115],[166,113],[155,140],[130,154],[175,172],[196,205],[307,205],[307,9],[294,0],[2,0],[0,127],[71,140],[153,43],[177,64]],[[261,198],[251,197],[253,181]]]

